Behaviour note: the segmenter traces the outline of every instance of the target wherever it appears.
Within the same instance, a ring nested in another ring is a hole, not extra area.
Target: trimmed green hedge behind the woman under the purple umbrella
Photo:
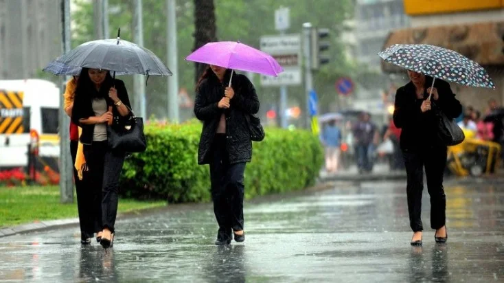
[[[171,203],[210,200],[208,166],[198,166],[202,124],[149,123],[148,149],[126,159],[122,194]],[[314,184],[323,163],[319,139],[308,131],[266,128],[266,138],[253,143],[252,162],[245,170],[247,198],[299,190]]]

